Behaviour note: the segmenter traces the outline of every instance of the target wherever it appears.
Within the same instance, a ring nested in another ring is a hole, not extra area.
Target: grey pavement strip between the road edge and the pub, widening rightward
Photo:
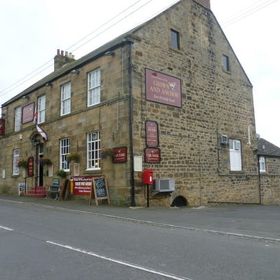
[[[113,207],[89,205],[88,200],[58,201],[0,195],[1,201],[32,203],[58,211],[78,211],[151,226],[180,228],[210,234],[280,243],[280,206],[216,205],[198,208]]]

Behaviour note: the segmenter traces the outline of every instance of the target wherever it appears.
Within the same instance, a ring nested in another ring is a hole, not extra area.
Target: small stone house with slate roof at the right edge
[[[280,204],[280,148],[258,139],[258,162],[262,204]]]

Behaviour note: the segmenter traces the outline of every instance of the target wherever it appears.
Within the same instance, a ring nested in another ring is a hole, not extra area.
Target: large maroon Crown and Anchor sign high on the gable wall
[[[146,69],[146,99],[175,107],[182,107],[181,80]]]

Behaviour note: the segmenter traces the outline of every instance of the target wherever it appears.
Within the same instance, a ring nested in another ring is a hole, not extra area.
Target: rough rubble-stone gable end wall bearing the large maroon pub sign
[[[170,29],[180,33],[180,50],[170,47]],[[212,13],[192,1],[182,1],[135,33],[133,94],[135,96],[135,150],[143,153],[146,120],[159,124],[160,164],[146,164],[156,178],[174,178],[171,196],[182,195],[189,204],[258,202],[255,120],[252,86]],[[222,55],[230,58],[223,71]],[[145,68],[182,80],[182,108],[145,98]],[[252,138],[248,144],[248,127]],[[241,172],[229,170],[229,147],[219,144],[226,134],[242,143]],[[142,191],[142,192],[141,192]],[[144,192],[138,189],[143,203]]]

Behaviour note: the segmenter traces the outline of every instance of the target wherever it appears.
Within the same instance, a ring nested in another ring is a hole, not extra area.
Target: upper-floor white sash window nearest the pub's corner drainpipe
[[[88,107],[100,103],[101,71],[96,69],[88,73]]]

